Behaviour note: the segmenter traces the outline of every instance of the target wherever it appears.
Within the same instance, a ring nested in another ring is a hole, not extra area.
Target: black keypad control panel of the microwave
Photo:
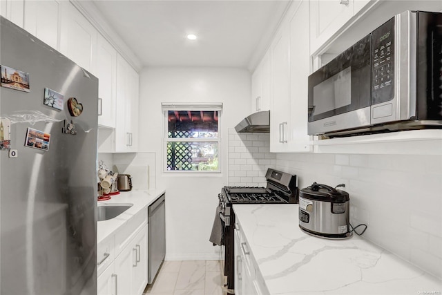
[[[394,17],[372,32],[372,105],[394,98]]]

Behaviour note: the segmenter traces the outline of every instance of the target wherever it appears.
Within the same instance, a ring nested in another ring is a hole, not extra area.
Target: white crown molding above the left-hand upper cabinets
[[[77,10],[92,23],[100,34],[117,50],[117,52],[128,61],[137,71],[143,68],[140,59],[133,53],[121,37],[113,30],[108,21],[99,12],[97,6],[92,1],[69,0]]]

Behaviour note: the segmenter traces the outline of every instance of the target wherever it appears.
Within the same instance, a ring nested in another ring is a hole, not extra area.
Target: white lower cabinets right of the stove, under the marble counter
[[[235,294],[268,295],[269,291],[239,223],[235,224]]]

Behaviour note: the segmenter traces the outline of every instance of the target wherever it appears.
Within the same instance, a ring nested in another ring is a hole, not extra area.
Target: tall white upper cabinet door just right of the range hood
[[[282,23],[270,46],[270,151],[287,149],[290,127],[289,27]]]

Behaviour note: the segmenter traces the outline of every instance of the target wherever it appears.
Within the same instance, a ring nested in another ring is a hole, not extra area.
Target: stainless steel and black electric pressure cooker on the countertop
[[[349,194],[314,182],[299,193],[299,227],[323,238],[349,238]]]

